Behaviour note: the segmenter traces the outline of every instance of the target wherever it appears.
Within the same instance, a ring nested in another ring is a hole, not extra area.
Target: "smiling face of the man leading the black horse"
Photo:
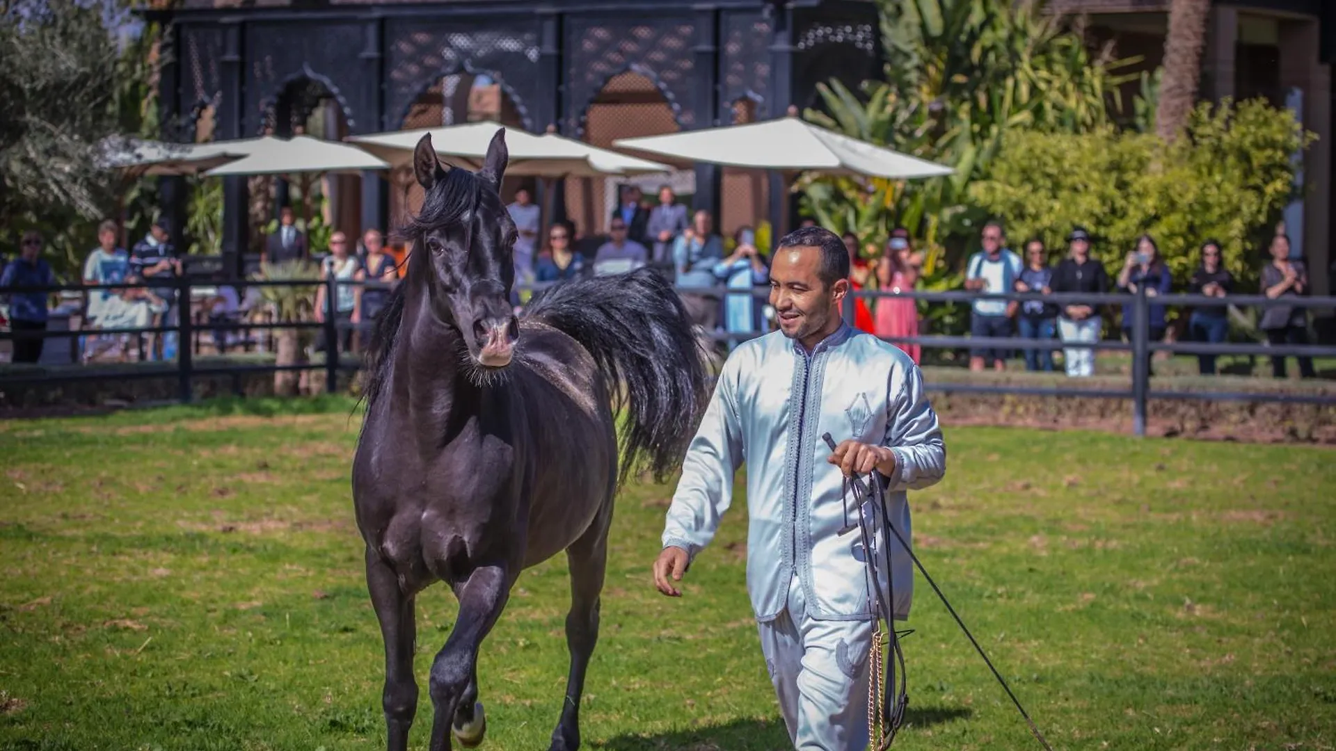
[[[839,301],[848,290],[848,281],[839,279],[827,287],[818,271],[819,247],[782,247],[775,251],[770,269],[770,303],[779,317],[779,330],[791,339],[806,339],[826,329],[831,317],[839,317]]]

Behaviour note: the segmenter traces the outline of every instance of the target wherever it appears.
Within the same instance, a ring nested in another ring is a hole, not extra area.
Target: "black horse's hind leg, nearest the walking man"
[[[566,615],[566,648],[570,651],[570,673],[566,678],[566,699],[561,720],[552,731],[550,751],[574,751],[580,747],[580,696],[584,694],[585,669],[599,643],[599,596],[603,592],[604,572],[608,568],[608,524],[612,505],[605,517],[595,522],[584,536],[566,549],[570,565],[570,612]]]

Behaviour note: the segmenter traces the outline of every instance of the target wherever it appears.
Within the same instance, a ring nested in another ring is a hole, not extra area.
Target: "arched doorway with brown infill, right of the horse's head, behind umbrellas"
[[[612,148],[620,138],[672,134],[681,130],[676,112],[659,86],[644,72],[628,69],[613,75],[589,102],[580,136],[593,146]],[[617,204],[617,191],[624,184],[636,184],[649,199],[664,175],[640,179],[578,178],[566,180],[566,216],[576,222],[577,237],[587,238],[597,249],[596,238],[608,230],[608,218]],[[689,170],[675,172],[669,182],[681,200],[689,202],[695,192],[695,174]],[[585,250],[577,247],[577,250]]]

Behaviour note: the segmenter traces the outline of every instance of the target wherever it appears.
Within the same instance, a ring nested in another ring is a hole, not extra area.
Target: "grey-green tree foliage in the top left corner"
[[[79,0],[0,0],[0,242],[37,229],[68,269],[94,245],[118,194],[147,211],[138,184],[99,170],[112,134],[156,130],[151,35],[118,44],[108,7]]]

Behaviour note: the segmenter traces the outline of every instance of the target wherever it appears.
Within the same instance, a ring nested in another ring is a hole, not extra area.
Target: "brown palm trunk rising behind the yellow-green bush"
[[[1164,79],[1156,110],[1156,134],[1172,142],[1188,123],[1197,104],[1201,80],[1201,49],[1206,41],[1210,0],[1172,0],[1169,33],[1165,36]]]

